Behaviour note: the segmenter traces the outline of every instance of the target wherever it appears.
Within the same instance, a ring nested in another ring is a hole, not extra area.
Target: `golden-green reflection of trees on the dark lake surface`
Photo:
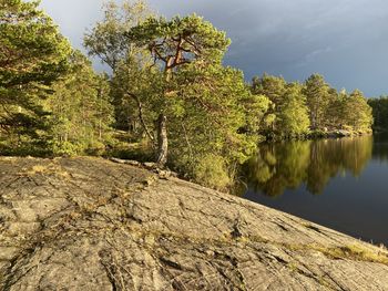
[[[247,163],[245,177],[252,190],[267,196],[302,186],[318,195],[337,175],[358,177],[372,152],[379,159],[388,159],[388,147],[379,145],[376,143],[374,148],[372,136],[266,144]]]

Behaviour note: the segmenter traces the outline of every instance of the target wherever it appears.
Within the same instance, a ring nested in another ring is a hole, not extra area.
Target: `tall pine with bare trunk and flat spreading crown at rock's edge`
[[[154,63],[162,65],[165,76],[164,98],[173,92],[176,85],[174,75],[181,66],[196,62],[201,67],[221,63],[223,54],[229,44],[224,32],[213,28],[210,22],[193,14],[185,18],[149,18],[127,32],[130,42],[137,42],[150,50]],[[165,102],[164,105],[166,105]],[[163,104],[162,104],[163,105]],[[167,115],[166,107],[161,106],[157,117],[157,163],[164,166],[167,162]]]

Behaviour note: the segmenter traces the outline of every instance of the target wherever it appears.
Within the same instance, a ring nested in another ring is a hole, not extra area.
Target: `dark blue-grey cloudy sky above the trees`
[[[41,7],[81,48],[101,18],[102,0],[42,0]],[[150,0],[171,17],[196,12],[225,30],[225,63],[247,80],[267,72],[303,81],[318,72],[337,89],[388,94],[387,0]]]

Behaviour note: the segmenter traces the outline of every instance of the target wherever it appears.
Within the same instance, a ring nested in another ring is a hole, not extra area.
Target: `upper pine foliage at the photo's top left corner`
[[[1,1],[0,82],[6,89],[32,82],[48,85],[65,70],[69,43],[38,4]]]

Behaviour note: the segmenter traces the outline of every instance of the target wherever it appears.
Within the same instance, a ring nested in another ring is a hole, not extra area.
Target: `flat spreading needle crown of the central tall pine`
[[[126,33],[130,41],[149,46],[155,59],[164,61],[166,69],[180,63],[169,63],[182,50],[178,62],[187,63],[195,59],[206,63],[218,63],[224,56],[231,40],[225,32],[217,31],[211,22],[196,14],[175,17],[171,20],[151,17]]]

